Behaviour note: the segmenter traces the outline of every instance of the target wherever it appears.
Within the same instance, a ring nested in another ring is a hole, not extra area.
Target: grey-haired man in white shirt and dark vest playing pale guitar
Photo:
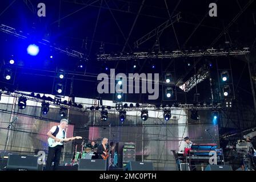
[[[53,126],[50,131],[48,131],[47,135],[48,137],[55,140],[55,142],[60,142],[55,147],[49,146],[48,156],[47,156],[47,162],[46,162],[46,170],[49,171],[51,167],[51,163],[54,162],[53,170],[57,170],[57,167],[59,166],[59,160],[61,159],[61,150],[63,148],[63,142],[69,142],[71,140],[74,140],[74,137],[66,138],[66,129],[67,124],[69,121],[67,119],[61,119],[61,122],[58,126]]]

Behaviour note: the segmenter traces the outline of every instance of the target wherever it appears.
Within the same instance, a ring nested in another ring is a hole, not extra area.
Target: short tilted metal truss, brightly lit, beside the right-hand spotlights
[[[210,76],[209,69],[200,68],[197,74],[189,78],[183,85],[179,86],[184,92],[189,92],[195,85]]]

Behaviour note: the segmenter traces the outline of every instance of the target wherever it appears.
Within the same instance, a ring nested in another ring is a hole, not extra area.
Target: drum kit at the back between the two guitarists
[[[81,146],[81,152],[78,152],[77,146],[75,146],[75,152],[73,157],[74,164],[78,164],[80,159],[98,159],[97,149],[99,144],[95,143],[94,146],[92,146],[90,143],[82,143]]]

